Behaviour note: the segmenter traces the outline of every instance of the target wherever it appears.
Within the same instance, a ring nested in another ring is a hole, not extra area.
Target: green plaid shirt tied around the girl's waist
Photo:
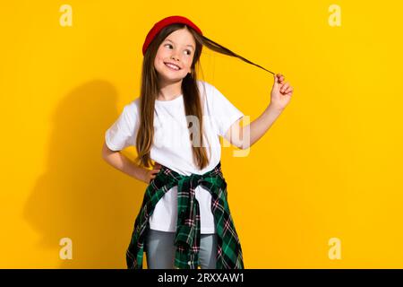
[[[218,243],[217,269],[244,269],[241,244],[236,234],[227,203],[227,183],[222,175],[221,162],[202,175],[183,176],[165,166],[150,181],[134,222],[132,239],[126,251],[129,269],[141,269],[144,239],[150,228],[150,215],[159,199],[171,187],[177,186],[177,227],[175,267],[197,269],[200,250],[200,210],[195,188],[201,185],[211,194],[211,212],[214,215]]]

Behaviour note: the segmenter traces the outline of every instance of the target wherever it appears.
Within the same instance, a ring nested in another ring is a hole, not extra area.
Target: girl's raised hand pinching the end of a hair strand
[[[284,83],[284,81],[284,75],[274,75],[274,83],[271,88],[270,106],[275,109],[285,109],[293,95],[294,88],[290,86],[289,83]]]

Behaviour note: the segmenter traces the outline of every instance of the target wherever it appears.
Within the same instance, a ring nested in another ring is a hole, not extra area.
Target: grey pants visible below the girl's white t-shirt
[[[201,234],[199,262],[201,269],[215,269],[217,234]],[[175,262],[175,232],[150,230],[144,241],[149,269],[173,269]]]

